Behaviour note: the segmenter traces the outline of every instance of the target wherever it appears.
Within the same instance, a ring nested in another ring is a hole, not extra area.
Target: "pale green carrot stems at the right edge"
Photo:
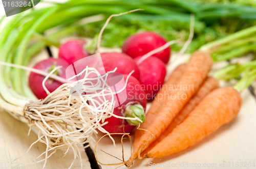
[[[256,26],[249,27],[223,39],[210,42],[200,49],[211,53],[215,62],[230,61],[245,54],[256,51]],[[234,86],[239,92],[251,85],[256,79],[255,57],[246,63],[234,63],[214,72],[214,76],[221,80],[237,79]]]

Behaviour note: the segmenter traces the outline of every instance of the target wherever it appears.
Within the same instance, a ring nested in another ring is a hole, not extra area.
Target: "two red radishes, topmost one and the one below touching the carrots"
[[[146,99],[152,100],[161,88],[166,75],[165,64],[170,59],[170,48],[159,51],[148,58],[143,55],[163,46],[167,41],[154,32],[142,32],[128,37],[122,51],[135,59],[139,68],[139,81],[146,93]]]

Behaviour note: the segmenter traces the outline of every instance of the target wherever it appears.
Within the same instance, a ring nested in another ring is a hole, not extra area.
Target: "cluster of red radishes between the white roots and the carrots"
[[[132,76],[135,78],[131,76],[126,87],[127,99],[114,109],[115,115],[139,117],[142,121],[145,120],[146,99],[152,100],[164,82],[165,64],[170,58],[170,48],[159,51],[148,58],[143,55],[161,47],[166,42],[163,37],[154,32],[142,32],[125,40],[122,53],[101,53],[106,71],[117,68],[116,72],[128,74],[134,70]],[[126,79],[127,76],[124,75],[124,77]],[[110,133],[132,132],[135,125],[139,124],[138,121],[132,122],[116,117],[108,118],[106,121],[108,123],[102,127]]]

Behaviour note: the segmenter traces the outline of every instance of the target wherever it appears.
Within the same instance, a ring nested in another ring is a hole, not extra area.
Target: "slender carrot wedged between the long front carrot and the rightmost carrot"
[[[211,91],[219,88],[219,81],[214,77],[208,77],[199,91],[189,100],[189,102],[182,108],[176,118],[172,123],[164,130],[164,132],[153,142],[141,156],[144,156],[148,151],[150,151],[155,145],[157,145],[162,139],[164,139],[173,129],[183,122],[189,113],[203,100],[203,98],[209,94]]]

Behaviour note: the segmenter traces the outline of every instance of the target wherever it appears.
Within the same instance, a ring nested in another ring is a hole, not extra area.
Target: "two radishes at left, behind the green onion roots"
[[[70,64],[84,57],[88,57],[89,52],[84,49],[84,44],[86,44],[86,41],[81,39],[67,41],[60,45],[58,59],[46,59],[38,62],[33,68],[50,73],[55,67],[61,66],[61,68],[55,71],[54,74],[66,78],[66,69]],[[44,99],[47,96],[47,93],[42,87],[44,78],[45,76],[34,72],[31,72],[29,76],[29,86],[38,99]],[[50,78],[45,83],[49,92],[53,92],[62,84],[63,82]]]

